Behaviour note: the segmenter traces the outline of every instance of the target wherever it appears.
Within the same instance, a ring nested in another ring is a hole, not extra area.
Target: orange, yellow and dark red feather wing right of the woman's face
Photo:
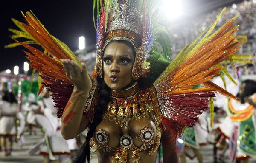
[[[238,100],[210,81],[221,75],[221,72],[226,72],[221,62],[227,59],[232,62],[235,58],[232,55],[238,51],[239,44],[244,42],[234,36],[238,30],[238,26],[234,24],[236,17],[212,34],[220,16],[195,41],[183,48],[154,82],[164,118],[180,124],[178,132],[195,123],[201,110],[208,108],[208,102],[216,91]],[[205,87],[195,87],[200,84]]]

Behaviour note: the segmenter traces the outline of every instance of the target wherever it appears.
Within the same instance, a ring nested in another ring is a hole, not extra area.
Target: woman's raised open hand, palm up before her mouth
[[[89,92],[92,87],[92,82],[90,80],[87,66],[85,63],[81,63],[82,68],[70,59],[60,59],[63,63],[64,70],[67,77],[73,82],[74,90],[81,90]]]

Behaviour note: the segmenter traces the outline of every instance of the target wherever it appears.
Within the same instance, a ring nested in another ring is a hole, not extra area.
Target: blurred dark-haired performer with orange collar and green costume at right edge
[[[230,136],[233,137],[233,145],[230,145],[233,153],[230,157],[240,163],[249,163],[250,157],[256,158],[256,82],[242,82],[237,97],[241,102],[230,99],[227,108],[233,124],[233,135]]]

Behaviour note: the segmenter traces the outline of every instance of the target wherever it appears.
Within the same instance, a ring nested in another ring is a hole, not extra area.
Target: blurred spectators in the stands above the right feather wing
[[[172,34],[172,52],[177,54],[181,48],[192,42],[201,32],[203,32],[223,8],[212,11],[210,14],[202,14],[195,19],[186,20],[173,24],[170,29]],[[226,8],[216,28],[221,27],[231,17],[238,15],[237,24],[240,24],[237,34],[246,35],[248,41],[243,45],[239,53],[253,53],[256,51],[256,0],[244,0],[241,3],[233,4]],[[182,25],[182,28],[180,26]]]

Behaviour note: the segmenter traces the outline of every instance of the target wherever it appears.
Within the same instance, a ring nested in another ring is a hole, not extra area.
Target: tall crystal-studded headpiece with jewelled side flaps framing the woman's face
[[[149,71],[146,62],[153,41],[152,27],[146,14],[143,0],[107,0],[100,4],[97,17],[97,57],[93,77],[102,77],[103,52],[113,40],[128,41],[133,45],[136,56],[132,69],[135,80]]]

